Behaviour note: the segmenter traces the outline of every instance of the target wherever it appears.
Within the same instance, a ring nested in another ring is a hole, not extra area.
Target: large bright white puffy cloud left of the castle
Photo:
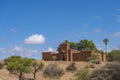
[[[33,34],[29,37],[27,37],[25,40],[24,40],[24,43],[25,44],[43,44],[45,43],[45,38],[43,35],[39,35],[39,34]]]

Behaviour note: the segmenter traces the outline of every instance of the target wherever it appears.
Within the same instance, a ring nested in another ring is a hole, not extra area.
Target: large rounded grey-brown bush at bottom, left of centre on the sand
[[[43,72],[45,78],[48,77],[52,80],[59,79],[63,74],[64,74],[64,70],[58,67],[57,64],[49,64]]]

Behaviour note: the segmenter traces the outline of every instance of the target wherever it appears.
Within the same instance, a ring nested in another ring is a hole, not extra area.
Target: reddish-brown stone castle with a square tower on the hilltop
[[[42,59],[45,61],[52,61],[52,56],[56,56],[56,61],[86,61],[91,57],[94,51],[78,51],[70,48],[68,42],[60,44],[58,53],[42,52]],[[105,61],[105,54],[99,54],[100,60]]]

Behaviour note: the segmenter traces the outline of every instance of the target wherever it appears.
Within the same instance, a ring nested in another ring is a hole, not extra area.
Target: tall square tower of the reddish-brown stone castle
[[[70,44],[68,42],[63,42],[60,44],[60,48],[58,49],[59,53],[64,54],[65,60],[68,61],[68,50],[70,49]]]

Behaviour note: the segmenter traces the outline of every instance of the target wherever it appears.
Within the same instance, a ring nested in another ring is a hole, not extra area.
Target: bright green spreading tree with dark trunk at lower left
[[[24,73],[31,72],[32,59],[12,56],[7,61],[7,70],[12,74],[18,75],[19,80],[23,80]]]

